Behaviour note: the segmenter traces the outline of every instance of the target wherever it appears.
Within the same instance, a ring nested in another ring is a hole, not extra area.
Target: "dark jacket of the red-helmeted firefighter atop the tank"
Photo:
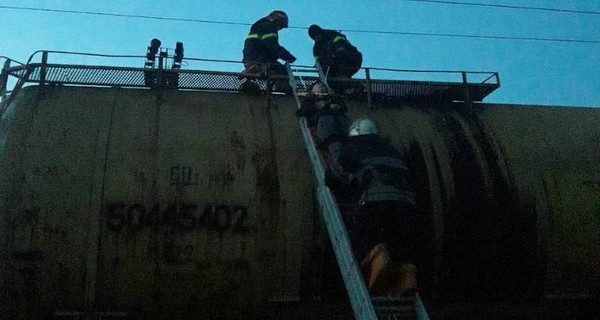
[[[267,18],[256,21],[244,42],[243,62],[275,63],[277,59],[293,57],[279,45],[277,25]]]

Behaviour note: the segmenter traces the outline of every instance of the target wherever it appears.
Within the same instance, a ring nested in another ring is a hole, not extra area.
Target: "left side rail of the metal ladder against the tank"
[[[294,90],[294,97],[298,108],[300,108],[300,99],[296,94],[296,80],[293,76],[289,63],[286,63],[290,85]],[[346,233],[346,228],[342,220],[342,215],[338,208],[337,202],[329,188],[325,185],[325,169],[321,163],[321,159],[317,152],[314,140],[308,128],[306,118],[300,118],[300,128],[304,143],[312,163],[313,172],[315,174],[315,183],[317,186],[317,198],[319,207],[325,225],[327,227],[329,238],[334,248],[336,259],[342,273],[346,290],[350,298],[350,303],[354,311],[354,315],[359,320],[377,319],[375,308],[371,302],[371,297],[367,291],[367,287],[362,278],[360,268],[356,263],[354,254],[350,246],[350,239]]]

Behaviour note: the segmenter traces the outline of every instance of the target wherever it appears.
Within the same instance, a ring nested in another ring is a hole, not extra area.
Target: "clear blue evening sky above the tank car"
[[[463,0],[600,12],[596,0]],[[0,6],[252,23],[273,9],[290,16],[280,43],[311,65],[309,25],[344,30],[445,33],[600,41],[600,15],[451,5],[406,0],[331,1],[0,1]],[[0,8],[0,55],[26,61],[40,49],[143,55],[149,40],[185,46],[186,57],[241,60],[248,26],[162,21]],[[486,102],[600,106],[600,43],[472,39],[345,32],[362,51],[363,66],[497,71],[502,87]],[[52,58],[52,57],[51,57]],[[62,60],[60,60],[62,59]],[[56,57],[51,61],[142,66],[140,59]],[[193,62],[189,69],[238,70]],[[379,77],[393,77],[387,74]]]

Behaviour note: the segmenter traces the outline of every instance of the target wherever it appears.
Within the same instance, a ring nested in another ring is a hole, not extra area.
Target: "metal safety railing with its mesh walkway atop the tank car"
[[[244,82],[244,76],[240,73],[243,70],[240,61],[185,58],[183,68],[171,69],[167,67],[167,63],[173,59],[172,56],[157,57],[158,68],[144,68],[146,56],[142,55],[40,50],[34,52],[26,63],[0,57],[6,59],[0,76],[0,92],[4,96],[7,95],[11,79],[16,80],[13,93],[28,83],[161,90],[239,91]],[[110,64],[98,64],[98,60],[105,58],[109,59]],[[135,64],[140,67],[132,67]],[[295,65],[294,68],[314,70],[313,66]],[[263,92],[270,93],[272,88],[269,82],[277,78],[287,78],[287,76],[263,75],[257,77],[255,81]],[[304,80],[308,86],[319,78],[315,74],[307,74]],[[345,92],[346,97],[366,100],[369,106],[376,102],[396,100],[481,101],[500,86],[500,79],[496,72],[372,67],[362,68],[354,79],[330,78],[329,80],[331,83],[338,82],[352,88],[350,92]],[[306,90],[306,88],[299,86],[299,90]],[[11,96],[13,94],[5,97],[4,102],[11,100]],[[7,103],[4,102],[2,108],[6,108]]]

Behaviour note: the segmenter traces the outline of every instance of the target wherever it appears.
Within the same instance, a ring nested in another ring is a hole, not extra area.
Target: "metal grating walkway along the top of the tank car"
[[[119,86],[119,87],[148,87],[145,79],[150,77],[158,83],[161,79],[167,87],[184,90],[213,90],[213,91],[238,91],[244,80],[240,79],[237,72],[220,72],[204,70],[169,70],[169,69],[144,69],[112,66],[87,66],[68,64],[42,64],[31,63],[12,67],[11,76],[27,83],[37,84],[66,84],[86,86]],[[29,72],[28,72],[29,71]],[[355,98],[367,98],[368,95],[378,99],[427,99],[439,98],[447,100],[481,101],[500,85],[497,74],[490,78],[494,82],[466,83],[466,82],[431,82],[408,80],[375,80],[353,79],[341,80],[348,86],[355,88],[351,93]],[[173,80],[175,80],[173,82]],[[317,77],[304,77],[304,84],[299,86],[302,90]],[[331,82],[335,82],[333,79]],[[267,79],[257,80],[263,91],[267,91]],[[305,90],[305,89],[304,89]]]

